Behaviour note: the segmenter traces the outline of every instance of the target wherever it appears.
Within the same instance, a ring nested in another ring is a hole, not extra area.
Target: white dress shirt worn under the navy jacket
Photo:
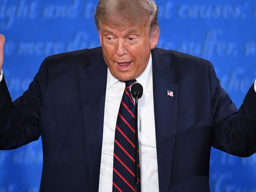
[[[157,149],[153,105],[152,58],[144,72],[136,78],[143,87],[138,100],[138,136],[140,157],[140,183],[142,192],[158,192]],[[99,192],[112,192],[114,138],[118,110],[125,89],[125,82],[116,79],[108,69],[107,90],[101,151]]]

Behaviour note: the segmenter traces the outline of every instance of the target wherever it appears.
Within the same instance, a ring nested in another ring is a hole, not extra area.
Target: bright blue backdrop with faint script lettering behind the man
[[[49,55],[99,46],[93,21],[96,0],[0,0],[0,33],[6,36],[4,75],[19,97]],[[157,0],[158,47],[210,60],[222,87],[239,107],[255,79],[255,0]],[[0,151],[0,192],[37,192],[41,138]],[[212,150],[213,192],[256,192],[256,155],[239,158]]]

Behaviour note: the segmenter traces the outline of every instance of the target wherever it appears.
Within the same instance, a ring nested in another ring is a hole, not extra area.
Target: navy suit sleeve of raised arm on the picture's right
[[[214,148],[239,157],[256,152],[256,92],[254,84],[237,110],[228,94],[221,88],[213,66],[209,65],[211,112],[213,115]]]

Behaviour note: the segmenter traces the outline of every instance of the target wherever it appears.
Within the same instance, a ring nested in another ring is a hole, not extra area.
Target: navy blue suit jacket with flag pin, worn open
[[[209,191],[211,146],[241,157],[256,151],[254,88],[237,111],[210,62],[151,53],[159,190]],[[101,47],[46,58],[13,103],[0,82],[0,149],[42,137],[40,191],[98,191],[106,84]]]

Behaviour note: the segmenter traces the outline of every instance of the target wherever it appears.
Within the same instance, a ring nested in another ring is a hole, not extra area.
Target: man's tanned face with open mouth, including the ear
[[[123,21],[123,23],[126,23]],[[122,81],[140,76],[146,69],[151,49],[158,42],[159,33],[149,35],[149,26],[102,23],[99,38],[103,57],[111,74]]]

